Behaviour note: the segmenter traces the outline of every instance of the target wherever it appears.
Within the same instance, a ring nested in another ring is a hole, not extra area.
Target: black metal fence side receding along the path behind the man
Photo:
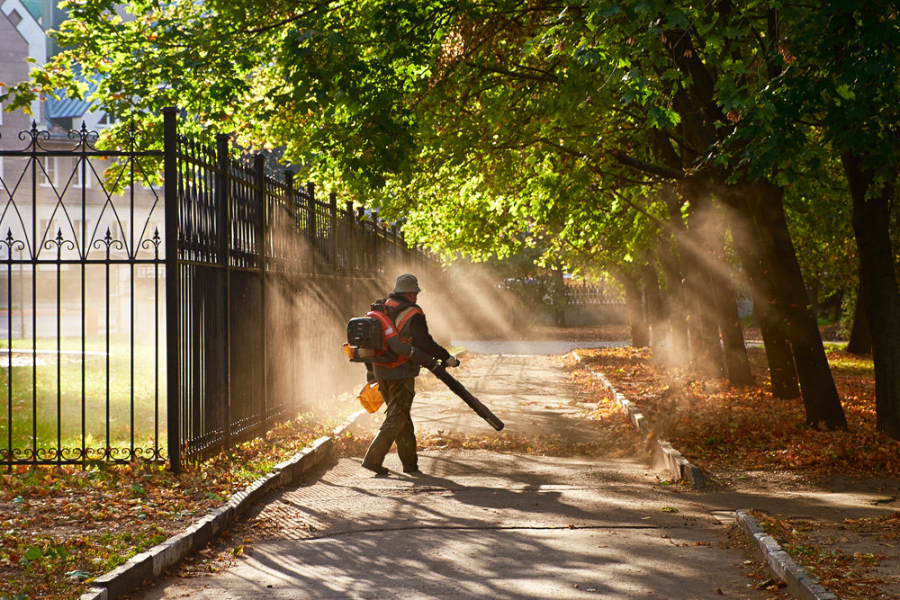
[[[169,458],[202,458],[261,434],[275,419],[345,391],[356,373],[335,360],[347,318],[384,288],[386,272],[439,276],[396,229],[361,219],[334,194],[293,175],[267,175],[263,157],[232,157],[179,136],[166,112],[166,199],[177,210],[168,255]],[[362,299],[362,300],[355,300]],[[180,411],[178,410],[180,407]]]

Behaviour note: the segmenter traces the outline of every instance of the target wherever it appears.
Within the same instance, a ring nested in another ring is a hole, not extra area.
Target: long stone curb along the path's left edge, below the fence
[[[235,493],[225,505],[195,521],[182,533],[176,533],[165,542],[135,554],[119,567],[94,579],[92,587],[80,596],[80,600],[114,600],[146,579],[157,578],[191,552],[201,550],[267,492],[300,479],[303,473],[325,459],[334,447],[335,438],[344,434],[356,423],[356,419],[367,414],[365,410],[359,410],[348,416],[330,435],[320,437],[309,448],[275,465],[266,475]]]

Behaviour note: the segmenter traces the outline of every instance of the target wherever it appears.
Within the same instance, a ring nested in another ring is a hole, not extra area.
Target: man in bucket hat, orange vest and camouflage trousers
[[[401,341],[413,345],[425,354],[447,366],[459,366],[459,360],[437,344],[428,333],[425,312],[416,304],[419,298],[419,280],[415,275],[402,274],[394,284],[394,290],[385,301],[388,316],[392,318]],[[369,449],[365,452],[363,467],[384,475],[384,456],[397,443],[397,454],[403,464],[404,473],[419,472],[419,456],[416,453],[416,431],[412,425],[412,399],[416,396],[416,377],[419,364],[406,356],[398,357],[394,363],[375,363],[374,379],[378,381],[384,403],[387,405],[384,422]]]

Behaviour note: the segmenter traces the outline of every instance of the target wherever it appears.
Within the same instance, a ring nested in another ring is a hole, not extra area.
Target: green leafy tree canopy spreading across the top
[[[807,271],[846,273],[825,260],[849,256],[834,157],[896,173],[887,2],[64,4],[66,49],[12,108],[88,80],[115,139],[179,106],[183,130],[284,147],[447,259],[634,265],[667,243],[660,184],[713,174],[788,189]]]

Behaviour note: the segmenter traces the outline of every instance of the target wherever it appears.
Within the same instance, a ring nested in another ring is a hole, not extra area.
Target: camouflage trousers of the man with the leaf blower
[[[397,454],[404,467],[417,466],[419,457],[416,454],[416,430],[412,426],[412,399],[416,396],[416,379],[410,377],[401,380],[385,380],[378,382],[384,404],[387,405],[384,422],[375,439],[365,452],[366,464],[381,466],[384,456],[391,450],[392,443],[397,443]]]

